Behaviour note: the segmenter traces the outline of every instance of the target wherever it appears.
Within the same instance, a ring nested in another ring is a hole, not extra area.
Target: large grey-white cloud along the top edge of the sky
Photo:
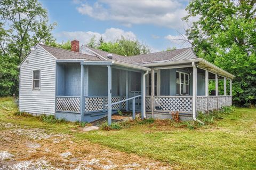
[[[79,4],[77,11],[102,21],[116,21],[124,26],[153,24],[179,29],[186,27],[181,18],[187,15],[179,1],[98,1]]]

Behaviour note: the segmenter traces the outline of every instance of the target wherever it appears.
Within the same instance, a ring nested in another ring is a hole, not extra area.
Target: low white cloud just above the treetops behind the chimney
[[[126,39],[137,39],[136,35],[131,31],[124,31],[119,28],[106,29],[103,34],[92,31],[62,31],[61,33],[55,34],[55,37],[57,37],[59,42],[77,39],[81,44],[87,44],[93,36],[95,36],[95,39],[97,40],[102,36],[106,42],[115,41],[122,36]]]

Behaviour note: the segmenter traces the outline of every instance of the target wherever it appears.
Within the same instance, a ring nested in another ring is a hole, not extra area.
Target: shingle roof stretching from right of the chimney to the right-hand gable
[[[97,50],[91,47],[88,47],[88,48],[90,48],[90,50],[94,51],[95,53],[98,53],[99,55],[103,56],[107,60],[108,60],[107,55],[112,54],[113,60],[134,64],[134,63],[142,63],[142,62],[171,60],[174,58],[174,56],[177,56],[178,54],[185,52],[190,47],[181,48],[181,49],[172,50],[172,51],[162,51],[162,52],[149,53],[149,54],[143,54],[143,55],[134,55],[134,56],[117,55],[117,54],[109,53],[106,51]]]

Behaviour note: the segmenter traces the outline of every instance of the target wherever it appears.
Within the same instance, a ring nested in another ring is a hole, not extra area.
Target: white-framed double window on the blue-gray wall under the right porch
[[[189,76],[184,72],[176,72],[176,94],[189,95]]]

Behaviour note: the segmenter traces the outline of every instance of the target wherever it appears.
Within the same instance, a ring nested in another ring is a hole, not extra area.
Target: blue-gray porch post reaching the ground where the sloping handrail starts
[[[112,106],[111,106],[111,92],[112,91],[112,69],[111,66],[108,66],[108,125],[111,125],[111,114],[112,114]]]

